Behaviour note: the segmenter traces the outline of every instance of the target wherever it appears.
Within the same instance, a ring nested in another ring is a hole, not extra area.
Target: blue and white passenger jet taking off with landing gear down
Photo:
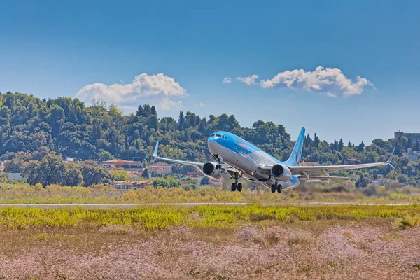
[[[391,165],[395,147],[387,162],[373,162],[359,165],[302,166],[300,165],[300,160],[302,158],[304,135],[305,129],[302,127],[290,158],[285,162],[277,160],[272,155],[265,153],[241,137],[224,131],[214,132],[208,139],[209,151],[214,161],[188,162],[158,157],[159,141],[156,142],[153,161],[165,160],[183,165],[193,165],[199,167],[202,174],[213,179],[220,179],[223,173],[227,172],[231,179],[235,179],[235,182],[232,183],[231,190],[237,190],[239,192],[242,190],[242,184],[239,183],[239,179],[261,183],[271,188],[272,193],[276,191],[281,193],[282,190],[292,190],[299,185],[300,181],[349,179],[347,177],[330,176],[330,173],[340,170],[377,167],[381,165],[390,165],[395,169]]]

